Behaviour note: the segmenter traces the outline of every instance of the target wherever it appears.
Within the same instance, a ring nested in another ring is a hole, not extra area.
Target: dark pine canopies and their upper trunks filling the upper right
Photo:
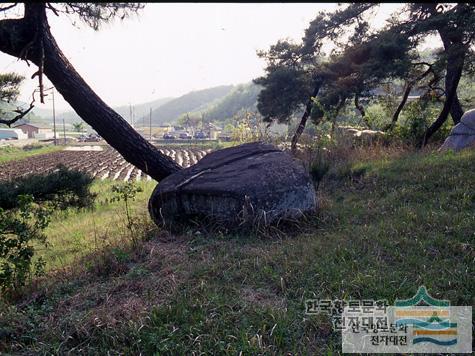
[[[301,113],[292,148],[311,117],[318,123],[325,112],[335,112],[352,102],[365,116],[361,97],[384,83],[401,80],[403,95],[391,118],[394,126],[411,90],[425,90],[445,98],[444,108],[424,135],[424,142],[447,120],[457,123],[463,109],[457,97],[462,71],[473,71],[471,45],[475,37],[471,4],[409,4],[393,14],[388,24],[369,26],[377,4],[349,4],[334,12],[320,12],[310,22],[300,43],[280,40],[259,55],[266,59],[266,74],[255,80],[264,89],[258,109],[267,122],[288,122]],[[438,34],[443,48],[432,61],[421,58],[419,45],[427,35]],[[324,52],[332,41],[335,47]],[[445,77],[445,84],[441,85]],[[318,98],[317,98],[318,95]]]

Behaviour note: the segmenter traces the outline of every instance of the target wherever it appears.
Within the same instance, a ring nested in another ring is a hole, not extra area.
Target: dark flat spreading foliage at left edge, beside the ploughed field
[[[91,175],[60,165],[52,173],[1,183],[0,208],[18,208],[21,195],[33,196],[36,203],[50,202],[53,208],[92,207],[96,196],[90,192],[92,182]]]

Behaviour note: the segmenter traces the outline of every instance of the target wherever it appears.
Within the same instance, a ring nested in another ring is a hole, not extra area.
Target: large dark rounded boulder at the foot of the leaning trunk
[[[157,224],[192,216],[271,224],[315,208],[315,190],[302,163],[258,142],[208,154],[162,180],[149,201]]]

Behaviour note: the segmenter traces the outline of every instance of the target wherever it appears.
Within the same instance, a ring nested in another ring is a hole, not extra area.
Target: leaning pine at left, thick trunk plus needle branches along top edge
[[[18,6],[4,5],[6,12]],[[74,14],[94,29],[114,18],[124,19],[143,8],[134,3],[25,3],[22,18],[0,21],[0,51],[27,62],[38,71],[40,100],[43,101],[43,75],[76,113],[130,163],[156,180],[178,171],[180,166],[160,153],[137,133],[119,114],[106,105],[75,71],[61,52],[50,31],[47,12]]]

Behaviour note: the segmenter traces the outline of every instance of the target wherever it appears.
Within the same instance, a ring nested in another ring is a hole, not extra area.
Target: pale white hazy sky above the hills
[[[401,4],[384,4],[375,25]],[[278,39],[300,40],[304,29],[330,3],[158,4],[139,16],[115,21],[98,32],[49,15],[51,31],[76,70],[111,106],[139,104],[191,90],[249,82],[263,73],[256,50]],[[36,71],[0,53],[0,72],[30,78]],[[21,100],[29,102],[37,80],[27,79]],[[70,110],[57,96],[59,111]],[[51,103],[37,105],[49,109]]]

